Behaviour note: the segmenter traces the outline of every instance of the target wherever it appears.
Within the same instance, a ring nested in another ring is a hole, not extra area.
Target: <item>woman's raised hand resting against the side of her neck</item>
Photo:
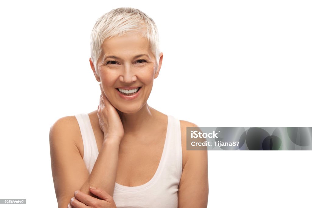
[[[120,120],[117,109],[110,103],[104,94],[100,83],[101,95],[100,104],[98,106],[98,117],[100,128],[104,133],[104,140],[115,140],[120,142],[124,137],[124,127]]]

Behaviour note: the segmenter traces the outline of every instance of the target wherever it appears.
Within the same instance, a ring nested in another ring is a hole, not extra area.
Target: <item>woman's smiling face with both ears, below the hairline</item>
[[[157,78],[163,55],[160,54],[158,68],[150,49],[149,41],[140,34],[127,34],[105,40],[103,55],[98,61],[96,79],[102,83],[103,91],[110,103],[123,113],[136,113],[147,102]]]

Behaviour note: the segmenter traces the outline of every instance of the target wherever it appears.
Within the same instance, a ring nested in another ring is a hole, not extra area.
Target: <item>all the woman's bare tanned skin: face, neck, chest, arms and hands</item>
[[[98,73],[90,59],[101,90],[98,109],[89,113],[99,150],[90,176],[83,161],[83,143],[76,118],[63,117],[50,129],[51,167],[58,207],[116,207],[112,198],[115,182],[124,186],[148,182],[157,170],[163,151],[167,115],[147,104],[163,54],[156,69],[148,40],[138,33],[105,40],[102,49],[104,55],[99,59]],[[134,100],[120,98],[115,88],[129,86],[141,86],[139,96]],[[178,207],[207,207],[207,151],[186,151],[186,127],[196,125],[182,120],[180,124],[183,172],[178,187]]]

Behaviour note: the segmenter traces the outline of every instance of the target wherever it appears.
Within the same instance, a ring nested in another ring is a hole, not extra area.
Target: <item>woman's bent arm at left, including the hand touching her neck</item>
[[[76,190],[96,197],[89,191],[90,186],[113,196],[124,129],[117,110],[106,98],[101,85],[100,88],[98,118],[104,139],[90,176],[75,143],[75,139],[81,138],[76,118],[59,119],[50,129],[51,167],[59,207],[67,207]]]

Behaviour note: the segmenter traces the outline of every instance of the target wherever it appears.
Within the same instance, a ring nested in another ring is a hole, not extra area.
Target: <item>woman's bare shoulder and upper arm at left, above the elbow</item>
[[[67,206],[74,191],[88,179],[89,173],[76,143],[79,140],[81,134],[75,116],[62,117],[50,128],[51,169],[59,207]]]

